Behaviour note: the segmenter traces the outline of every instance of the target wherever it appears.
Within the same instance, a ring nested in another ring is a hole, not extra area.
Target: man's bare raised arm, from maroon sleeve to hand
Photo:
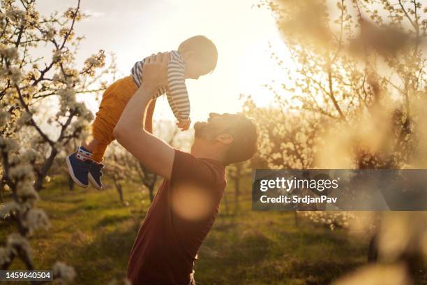
[[[151,171],[170,179],[174,149],[142,128],[145,111],[159,86],[167,85],[168,54],[149,57],[142,71],[142,85],[123,110],[114,128],[116,140]]]

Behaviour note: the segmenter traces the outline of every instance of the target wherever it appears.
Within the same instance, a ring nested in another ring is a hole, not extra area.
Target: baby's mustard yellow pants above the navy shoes
[[[114,140],[114,126],[119,122],[121,113],[136,90],[137,87],[131,76],[117,80],[105,90],[92,124],[92,136],[98,140],[98,145],[92,152],[94,161],[103,160],[105,149]]]

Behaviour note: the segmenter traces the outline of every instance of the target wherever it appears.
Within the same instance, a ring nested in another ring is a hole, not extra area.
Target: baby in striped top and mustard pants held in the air
[[[212,41],[205,36],[193,36],[183,41],[178,50],[169,52],[169,56],[168,84],[160,87],[155,97],[166,94],[170,108],[178,119],[177,126],[185,131],[191,122],[190,101],[185,80],[198,79],[201,75],[213,71],[216,67],[218,52]],[[103,164],[101,161],[103,161],[105,149],[114,140],[114,126],[119,121],[121,112],[142,84],[141,73],[144,61],[145,59],[137,61],[130,76],[117,80],[105,90],[99,111],[92,124],[93,138],[89,142],[82,142],[82,146],[76,152],[67,156],[68,172],[80,187],[88,187],[90,181],[96,189],[102,188]],[[153,112],[153,109],[149,108],[147,112]],[[147,113],[147,117],[151,115]]]

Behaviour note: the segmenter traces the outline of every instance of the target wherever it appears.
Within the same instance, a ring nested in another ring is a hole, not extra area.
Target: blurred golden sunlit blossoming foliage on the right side
[[[257,108],[244,96],[244,111],[260,129],[260,165],[426,168],[425,3],[278,0],[259,7],[276,18],[288,55],[271,47],[285,73],[280,89],[267,86],[275,94],[273,106]],[[363,219],[345,223],[343,213],[308,215],[332,229],[363,228],[373,235],[379,261],[392,264],[361,270],[339,284],[414,282],[426,256],[425,213],[356,214]]]

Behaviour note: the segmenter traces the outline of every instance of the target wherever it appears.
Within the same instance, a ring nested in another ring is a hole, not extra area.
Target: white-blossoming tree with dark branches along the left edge
[[[49,226],[45,212],[36,208],[38,191],[63,146],[78,138],[92,119],[77,94],[105,88],[100,76],[109,68],[96,73],[105,66],[103,50],[81,68],[75,64],[83,39],[75,34],[75,25],[85,17],[80,1],[76,4],[65,13],[45,16],[38,13],[35,0],[1,1],[0,192],[6,203],[0,207],[0,219],[16,224],[16,232],[1,242],[2,270],[15,258],[34,269],[27,238]],[[40,54],[38,47],[50,52]],[[54,275],[70,281],[75,272],[57,263]]]

